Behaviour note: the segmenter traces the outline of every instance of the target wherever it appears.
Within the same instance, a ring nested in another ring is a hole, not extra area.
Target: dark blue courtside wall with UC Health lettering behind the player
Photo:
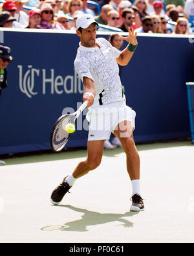
[[[62,32],[4,31],[2,44],[12,49],[14,61],[0,98],[0,154],[50,149],[56,119],[82,102],[73,65],[79,41]],[[136,111],[136,142],[189,136],[185,84],[194,80],[193,56],[188,38],[138,36],[133,59],[122,69],[127,104]],[[87,145],[86,113],[67,147]]]

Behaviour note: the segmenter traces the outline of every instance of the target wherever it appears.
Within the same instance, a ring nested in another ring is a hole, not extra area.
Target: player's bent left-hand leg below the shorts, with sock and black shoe
[[[90,170],[94,170],[100,165],[103,156],[103,143],[104,141],[88,141],[87,145],[87,159],[81,161],[74,172],[65,177],[62,183],[52,191],[50,201],[54,205],[58,205],[63,196],[69,192],[70,187],[72,187],[74,181],[77,178],[87,174]]]

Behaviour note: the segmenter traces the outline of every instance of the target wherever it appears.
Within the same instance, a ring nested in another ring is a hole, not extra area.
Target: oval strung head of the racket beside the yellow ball
[[[61,150],[63,148],[68,139],[70,134],[66,132],[65,126],[70,122],[70,117],[67,115],[56,123],[53,129],[53,134],[52,134],[52,148],[55,151]]]

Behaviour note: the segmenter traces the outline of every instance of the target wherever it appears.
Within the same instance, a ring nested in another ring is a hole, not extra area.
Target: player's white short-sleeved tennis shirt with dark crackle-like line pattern
[[[122,84],[116,58],[120,51],[105,38],[96,38],[99,47],[84,47],[80,43],[74,67],[81,80],[87,76],[94,81],[96,97],[92,106],[100,106],[123,99]]]

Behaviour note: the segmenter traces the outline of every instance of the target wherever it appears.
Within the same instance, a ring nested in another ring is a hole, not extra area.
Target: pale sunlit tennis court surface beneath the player
[[[120,148],[105,150],[60,205],[52,190],[86,150],[5,159],[0,167],[0,242],[194,242],[194,146],[138,145],[145,211],[129,212],[131,181]]]

